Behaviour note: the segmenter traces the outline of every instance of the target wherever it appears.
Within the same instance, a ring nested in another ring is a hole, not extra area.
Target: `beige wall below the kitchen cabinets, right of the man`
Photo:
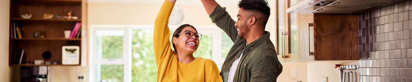
[[[328,82],[339,82],[340,72],[335,64],[359,65],[358,60],[343,61],[308,61],[282,63],[283,71],[278,82],[321,82],[322,77],[328,77]],[[297,69],[297,78],[290,78],[290,69]]]

